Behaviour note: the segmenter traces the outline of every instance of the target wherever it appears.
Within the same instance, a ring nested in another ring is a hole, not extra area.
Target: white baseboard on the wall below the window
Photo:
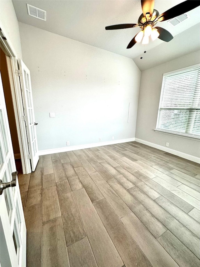
[[[200,163],[200,158],[198,158],[198,157],[195,157],[195,156],[192,156],[192,155],[189,155],[189,154],[186,154],[186,153],[183,153],[183,152],[180,152],[180,151],[177,151],[177,150],[165,147],[165,146],[160,146],[160,145],[157,145],[157,144],[154,144],[154,143],[142,140],[142,139],[135,138],[135,141],[138,143],[142,143],[144,145],[147,145],[147,146],[152,146],[152,147],[157,148],[159,150],[163,150],[165,152],[176,155],[178,157],[182,157],[182,158],[191,160],[193,162]]]

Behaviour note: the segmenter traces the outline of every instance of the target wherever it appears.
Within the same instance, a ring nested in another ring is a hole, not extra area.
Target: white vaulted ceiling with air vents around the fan
[[[140,28],[106,31],[105,26],[138,23],[138,17],[142,13],[139,0],[13,0],[12,2],[18,21],[129,57],[141,70],[191,53],[200,47],[200,7],[188,12],[190,18],[175,27],[166,21],[157,23],[157,26],[172,33],[174,39],[170,42],[157,39],[148,45],[135,44],[133,48],[126,49]],[[155,0],[154,8],[161,14],[181,2],[183,0]],[[47,21],[29,16],[27,3],[47,11]],[[145,50],[147,53],[144,54]],[[141,56],[143,59],[140,59]]]

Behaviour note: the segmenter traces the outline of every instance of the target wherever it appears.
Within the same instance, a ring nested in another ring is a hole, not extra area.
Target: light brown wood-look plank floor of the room
[[[200,165],[128,142],[18,177],[27,267],[200,266]]]

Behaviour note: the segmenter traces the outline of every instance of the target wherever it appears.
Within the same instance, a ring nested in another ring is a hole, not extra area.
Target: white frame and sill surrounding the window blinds
[[[159,114],[160,114],[160,109],[161,109],[161,103],[162,103],[162,97],[163,97],[163,90],[164,90],[164,76],[169,75],[169,74],[173,74],[173,73],[180,73],[182,71],[185,70],[189,70],[189,69],[194,69],[200,67],[200,64],[195,64],[192,66],[188,66],[182,69],[176,69],[167,73],[163,73],[163,81],[162,81],[162,87],[161,87],[161,93],[160,93],[160,100],[159,100],[159,106],[158,106],[158,116],[157,116],[157,122],[156,122],[156,129],[154,129],[155,132],[160,132],[160,133],[164,133],[164,134],[168,134],[168,135],[173,135],[173,136],[179,136],[179,137],[183,137],[183,138],[188,138],[188,139],[196,139],[196,140],[200,140],[200,135],[195,135],[195,134],[188,134],[187,132],[181,133],[178,131],[173,131],[173,130],[166,130],[166,129],[162,129],[162,128],[158,128],[158,121],[159,121]]]

